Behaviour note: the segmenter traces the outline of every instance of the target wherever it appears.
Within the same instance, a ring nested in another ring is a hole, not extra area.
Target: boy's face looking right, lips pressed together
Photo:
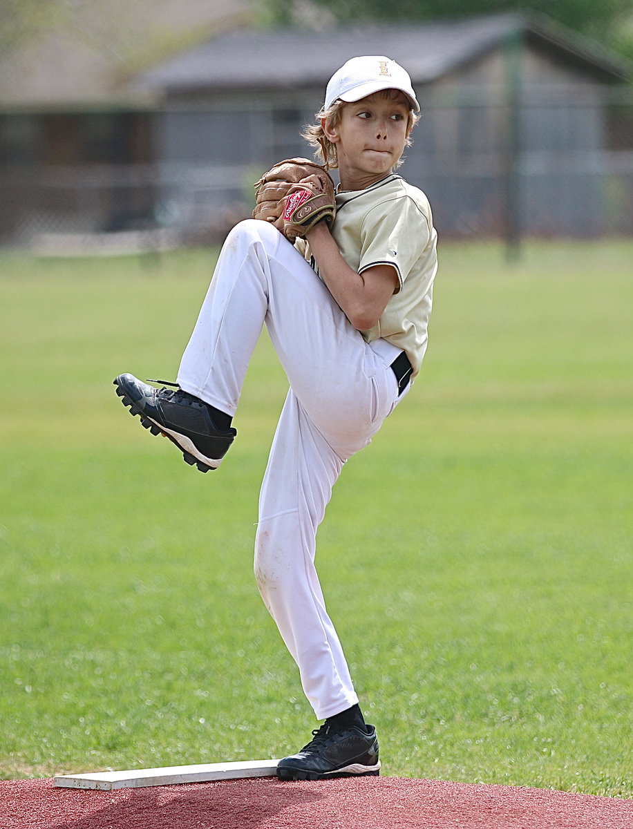
[[[392,169],[405,148],[410,109],[402,92],[382,90],[344,104],[338,124],[324,125],[328,138],[337,144],[345,189],[354,184],[368,187]]]

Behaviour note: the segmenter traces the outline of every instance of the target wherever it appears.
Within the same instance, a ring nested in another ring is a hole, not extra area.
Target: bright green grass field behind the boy
[[[319,572],[384,773],[633,797],[633,244],[444,245],[426,365]],[[0,257],[0,777],[283,756],[316,727],[252,577],[285,377],[222,469],[140,429],[212,255]]]

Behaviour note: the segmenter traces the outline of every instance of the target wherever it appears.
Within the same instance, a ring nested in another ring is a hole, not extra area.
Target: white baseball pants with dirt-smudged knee
[[[367,343],[278,230],[247,220],[222,247],[178,383],[228,414],[263,324],[290,381],[261,487],[255,574],[319,720],[358,702],[314,568],[343,463],[398,401],[400,350]]]

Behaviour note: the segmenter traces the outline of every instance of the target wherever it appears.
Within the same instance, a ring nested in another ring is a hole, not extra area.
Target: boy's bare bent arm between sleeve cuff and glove
[[[397,290],[396,269],[380,264],[357,274],[341,256],[324,221],[314,225],[306,239],[319,267],[319,276],[349,322],[358,331],[374,327]]]

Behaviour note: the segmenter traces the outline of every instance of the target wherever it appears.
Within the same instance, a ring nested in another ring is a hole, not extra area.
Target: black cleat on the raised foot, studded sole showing
[[[237,432],[218,429],[203,400],[178,385],[173,390],[154,389],[131,374],[120,374],[114,385],[123,405],[129,406],[129,413],[138,414],[141,424],[152,434],[170,439],[182,450],[187,463],[195,464],[201,472],[220,466]]]

